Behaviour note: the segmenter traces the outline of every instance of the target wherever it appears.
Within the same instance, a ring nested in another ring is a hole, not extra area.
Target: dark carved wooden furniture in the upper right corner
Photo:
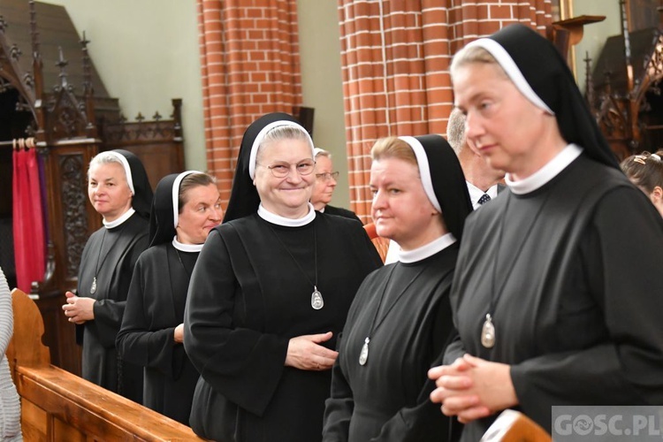
[[[663,147],[663,0],[620,5],[621,34],[606,40],[591,74],[592,60],[585,58],[585,90],[598,125],[623,159]]]

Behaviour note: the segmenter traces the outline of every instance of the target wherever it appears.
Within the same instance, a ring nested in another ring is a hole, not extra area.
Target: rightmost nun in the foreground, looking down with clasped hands
[[[466,133],[507,191],[468,217],[453,280],[460,332],[432,369],[476,441],[516,408],[663,403],[663,221],[621,173],[560,53],[511,25],[453,58]]]

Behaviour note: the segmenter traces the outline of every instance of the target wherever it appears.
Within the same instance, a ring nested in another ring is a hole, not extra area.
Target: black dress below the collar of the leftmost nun
[[[96,300],[95,319],[77,325],[83,378],[141,403],[142,370],[119,359],[115,338],[138,256],[148,248],[148,220],[134,213],[124,223],[92,233],[80,257],[78,295]],[[90,293],[96,276],[96,291]],[[119,369],[118,369],[119,368]]]

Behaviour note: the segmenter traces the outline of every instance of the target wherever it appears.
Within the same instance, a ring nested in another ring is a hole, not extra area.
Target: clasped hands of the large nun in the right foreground
[[[469,423],[505,408],[518,405],[511,367],[465,354],[451,365],[440,365],[428,371],[438,386],[431,400],[442,404],[442,413],[458,416]]]

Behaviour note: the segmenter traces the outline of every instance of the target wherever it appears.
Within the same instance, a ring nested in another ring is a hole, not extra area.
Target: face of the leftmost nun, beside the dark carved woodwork
[[[107,222],[129,210],[132,194],[122,164],[93,164],[88,171],[88,197]]]

